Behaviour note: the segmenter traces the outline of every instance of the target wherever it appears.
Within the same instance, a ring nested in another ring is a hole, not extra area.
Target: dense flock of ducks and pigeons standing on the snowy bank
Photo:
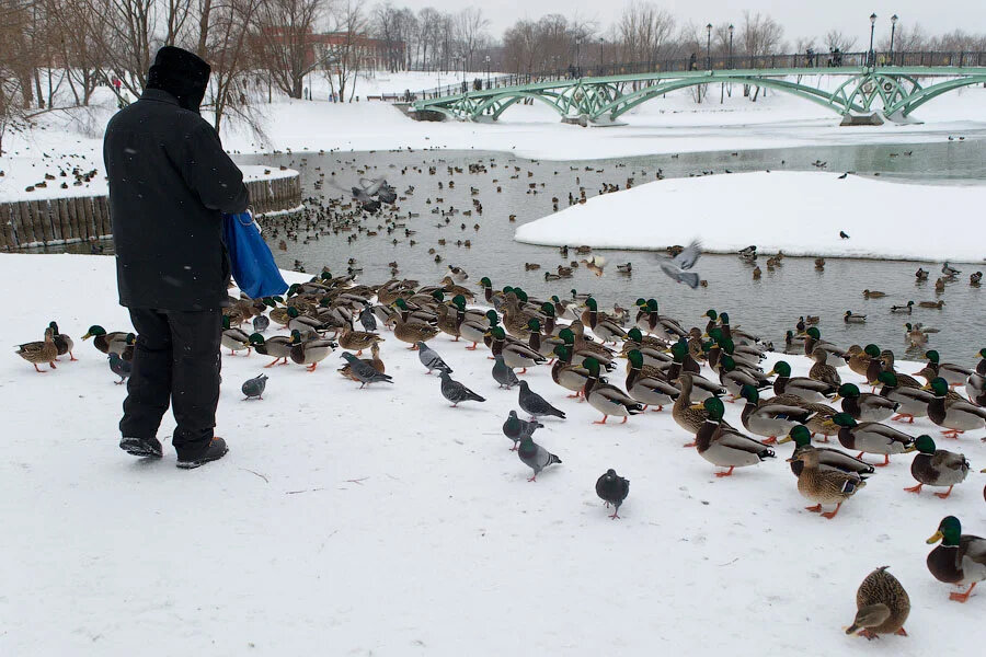
[[[478,283],[479,295],[474,295],[477,288],[467,279],[465,270],[449,266],[437,285],[392,278],[368,286],[356,284],[352,275],[333,277],[323,270],[307,283],[293,285],[283,298],[230,297],[222,346],[230,354],[254,350],[273,358],[266,368],[294,362],[310,372],[330,354],[343,349],[345,364],[339,369],[343,377],[360,388],[392,384],[380,354],[382,325],[398,342],[417,351],[427,372],[438,372],[438,392],[452,406],[484,402],[452,378],[452,369],[431,346],[445,334],[465,343],[469,350],[483,345],[493,361],[493,380],[508,390],[517,387],[517,404],[527,418],[511,412],[503,433],[530,469],[531,482],[544,469],[562,462],[535,441],[535,433],[543,427],[542,420],[564,420],[566,414],[542,396],[548,391],[536,392],[519,377],[530,368],[550,367],[551,380],[569,399],[599,412],[595,424],[607,424],[609,418],[626,423],[647,408],[662,412],[670,406],[675,423],[690,438],[685,446],[721,469],[715,472],[719,477],[775,458],[773,445],[793,442],[787,460],[796,476],[796,488],[814,503],[809,510],[828,519],[863,491],[868,479],[887,465],[892,456],[916,452],[910,472],[917,483],[906,488],[914,494],[924,486],[940,487],[944,491],[936,495],[947,499],[953,487],[966,480],[970,463],[962,453],[940,449],[931,436],[913,436],[887,420],[913,424],[916,417],[927,417],[940,428],[943,439],[986,428],[986,348],[978,351],[975,370],[944,362],[937,351],[927,351],[927,362],[915,374],[925,379],[921,383],[895,368],[892,350],[874,344],[842,349],[822,339],[817,318],[802,318],[788,332],[786,351],[804,354],[814,365],[807,377],[793,377],[791,365],[783,359],[764,371],[760,364],[768,357],[768,345],[734,325],[727,312],[709,310],[702,318],[704,326],[686,328],[679,320],[662,314],[655,299],[638,299],[635,315],[622,309],[608,313],[592,296],[574,291],[565,298],[534,299],[518,287],[495,289],[491,279],[483,277]],[[270,335],[274,324],[286,334]],[[83,336],[90,337],[107,355],[119,382],[125,380],[134,334],[94,325]],[[60,355],[73,360],[72,349],[71,337],[51,322],[43,341],[20,345],[18,353],[43,371],[38,365],[47,362],[54,368]],[[360,358],[367,349],[370,356]],[[616,371],[620,359],[626,359],[626,377]],[[842,381],[842,368],[862,377],[872,392]],[[617,376],[622,385],[608,380]],[[262,399],[265,382],[265,376],[246,381],[244,395]],[[737,426],[725,420],[724,401],[744,403]],[[834,438],[849,451],[813,443],[815,438],[823,443]],[[869,462],[863,459],[868,454],[882,461]],[[597,481],[596,491],[614,506],[611,517],[618,518],[629,495],[629,481],[608,470]],[[953,600],[966,601],[976,583],[986,578],[986,540],[961,533],[953,516],[941,521],[932,539],[941,545],[928,556],[931,574],[968,587],[951,595]],[[870,637],[903,632],[906,612],[902,615],[899,607],[907,597],[899,583],[894,583],[885,569],[868,577],[860,588],[862,602],[852,629]]]

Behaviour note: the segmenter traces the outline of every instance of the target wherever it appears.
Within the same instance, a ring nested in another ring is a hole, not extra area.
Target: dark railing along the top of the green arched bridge
[[[699,57],[698,54],[679,59],[635,61],[626,64],[570,66],[566,69],[511,73],[506,76],[457,79],[450,84],[424,89],[403,95],[403,101],[417,101],[459,95],[470,91],[521,87],[540,82],[557,82],[577,78],[607,78],[661,72],[732,70],[732,69],[813,69],[840,67],[986,67],[986,53],[801,53],[795,55],[734,55]],[[449,73],[455,77],[455,73]]]

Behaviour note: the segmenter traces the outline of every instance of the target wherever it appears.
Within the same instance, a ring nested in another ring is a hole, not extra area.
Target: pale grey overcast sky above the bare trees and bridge
[[[490,19],[490,32],[496,37],[517,19],[538,19],[547,13],[561,13],[593,20],[605,30],[616,21],[627,0],[393,0],[395,5],[414,10],[434,7],[458,11],[468,4],[483,10]],[[784,27],[784,39],[793,43],[802,36],[824,36],[835,27],[858,35],[859,43],[869,41],[871,13],[876,13],[876,39],[882,31],[890,34],[890,16],[899,16],[898,25],[920,23],[927,33],[938,34],[961,27],[965,32],[986,32],[986,0],[661,0],[655,2],[679,19],[696,25],[731,21],[737,27],[743,10],[768,13]]]

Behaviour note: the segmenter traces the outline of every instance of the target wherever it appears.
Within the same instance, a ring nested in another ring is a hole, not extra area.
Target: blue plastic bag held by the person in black
[[[261,237],[253,215],[222,215],[222,222],[230,270],[240,291],[251,299],[283,295],[288,285],[274,264],[274,254]]]

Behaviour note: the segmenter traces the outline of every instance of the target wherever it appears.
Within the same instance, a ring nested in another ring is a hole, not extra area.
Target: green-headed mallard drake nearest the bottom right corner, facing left
[[[986,579],[986,539],[962,533],[962,523],[954,516],[947,516],[938,525],[928,543],[941,545],[928,555],[928,570],[939,581],[962,587],[964,593],[949,593],[949,600],[966,602],[976,585]]]

